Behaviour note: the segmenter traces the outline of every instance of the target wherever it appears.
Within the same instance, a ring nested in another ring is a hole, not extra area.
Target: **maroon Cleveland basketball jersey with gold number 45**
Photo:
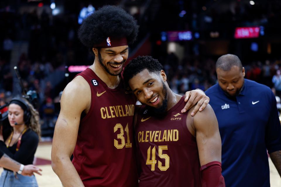
[[[136,124],[139,187],[201,186],[196,138],[186,126],[184,97],[164,115],[142,107]]]

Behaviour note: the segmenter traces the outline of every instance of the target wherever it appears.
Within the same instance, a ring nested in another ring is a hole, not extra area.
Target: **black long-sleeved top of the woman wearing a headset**
[[[18,151],[16,151],[18,142],[14,143],[13,146],[7,148],[6,144],[3,141],[0,141],[0,150],[19,163],[28,165],[32,164],[33,162],[38,142],[38,135],[31,129],[28,129],[21,138],[20,148]]]

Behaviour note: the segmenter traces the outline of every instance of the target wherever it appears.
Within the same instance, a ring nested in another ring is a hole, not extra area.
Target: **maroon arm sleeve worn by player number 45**
[[[225,187],[225,179],[222,176],[222,164],[218,161],[209,162],[201,166],[202,187]]]

